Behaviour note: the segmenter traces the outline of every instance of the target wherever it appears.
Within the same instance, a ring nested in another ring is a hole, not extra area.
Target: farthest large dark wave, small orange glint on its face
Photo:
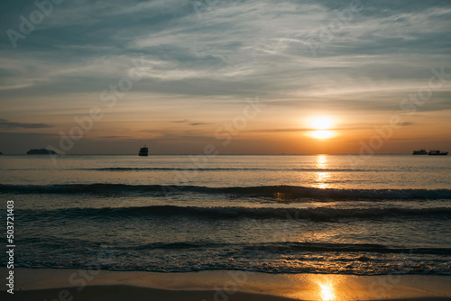
[[[280,201],[315,200],[451,200],[451,189],[337,189],[297,186],[262,187],[199,187],[125,184],[68,184],[68,185],[0,185],[0,193],[19,194],[90,194],[116,196],[121,194],[173,194],[198,193],[231,196],[272,197]]]

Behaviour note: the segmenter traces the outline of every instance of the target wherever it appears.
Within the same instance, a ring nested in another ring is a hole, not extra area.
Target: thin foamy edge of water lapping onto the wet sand
[[[172,260],[175,260],[173,257]],[[64,260],[55,260],[46,262],[44,260],[23,260],[20,263],[14,263],[17,267],[28,269],[98,269],[110,271],[145,271],[157,273],[188,273],[199,272],[205,270],[235,270],[235,272],[253,272],[264,274],[336,274],[336,275],[352,275],[352,276],[387,276],[393,275],[437,275],[437,276],[451,276],[449,272],[449,265],[441,263],[435,264],[433,261],[421,262],[417,267],[400,267],[400,264],[387,264],[385,266],[378,266],[376,264],[369,264],[375,259],[361,256],[358,259],[350,260],[333,260],[344,261],[347,265],[342,264],[327,267],[328,262],[322,261],[323,264],[318,264],[320,260],[310,259],[310,261],[299,260],[296,266],[282,266],[272,262],[262,262],[250,265],[241,262],[196,262],[196,264],[168,264],[167,262],[146,262],[145,265],[134,262],[117,262],[109,263],[105,261],[92,260],[78,260],[76,262],[67,262]],[[75,261],[75,260],[74,260]],[[318,261],[318,262],[316,262]],[[360,262],[360,268],[354,268],[352,262]],[[313,263],[313,264],[312,264]],[[317,263],[317,264],[314,264]],[[343,267],[340,267],[343,266]],[[437,299],[438,300],[438,299]],[[444,299],[447,300],[447,299]]]

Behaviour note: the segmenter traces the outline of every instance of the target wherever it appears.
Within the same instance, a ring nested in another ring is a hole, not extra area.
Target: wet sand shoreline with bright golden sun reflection
[[[8,270],[0,268],[1,275]],[[451,300],[451,276],[14,269],[8,300]],[[327,299],[328,298],[328,299]],[[2,297],[2,299],[4,299]]]

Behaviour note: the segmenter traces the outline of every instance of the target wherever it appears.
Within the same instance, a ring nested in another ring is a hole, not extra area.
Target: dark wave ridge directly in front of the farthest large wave
[[[379,219],[379,218],[446,218],[451,216],[450,207],[436,208],[268,208],[268,207],[198,207],[178,205],[152,205],[141,207],[104,207],[104,208],[64,208],[55,210],[21,210],[21,216],[27,214],[51,219],[91,218],[91,219],[127,219],[127,218],[167,218],[188,217],[200,219],[290,219],[329,222],[342,219]]]

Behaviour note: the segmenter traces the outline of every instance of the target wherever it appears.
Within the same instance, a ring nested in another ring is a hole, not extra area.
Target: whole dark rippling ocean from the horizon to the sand
[[[15,267],[451,274],[451,158],[356,158],[0,156],[0,196]]]

